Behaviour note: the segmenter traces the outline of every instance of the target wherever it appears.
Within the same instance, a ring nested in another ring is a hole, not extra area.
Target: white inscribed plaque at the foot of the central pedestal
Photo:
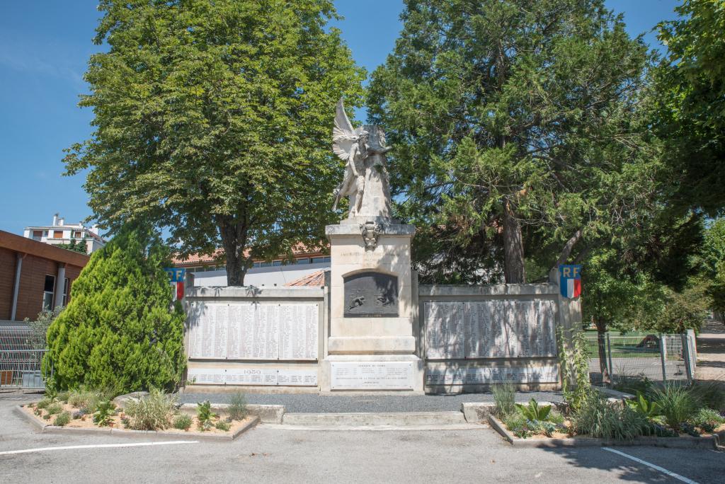
[[[331,362],[331,390],[413,390],[413,362]]]

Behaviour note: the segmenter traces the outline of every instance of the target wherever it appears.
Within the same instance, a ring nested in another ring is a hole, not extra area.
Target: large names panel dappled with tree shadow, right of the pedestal
[[[429,301],[426,358],[556,356],[554,301]]]

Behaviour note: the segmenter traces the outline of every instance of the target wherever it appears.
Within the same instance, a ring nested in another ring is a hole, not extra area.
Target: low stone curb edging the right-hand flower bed
[[[718,436],[710,437],[639,437],[634,441],[607,441],[602,438],[517,438],[503,423],[489,414],[489,424],[511,446],[521,448],[599,447],[599,446],[653,446],[668,448],[718,448]]]

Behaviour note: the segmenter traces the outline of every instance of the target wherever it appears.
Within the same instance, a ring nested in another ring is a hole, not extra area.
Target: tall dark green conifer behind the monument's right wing
[[[402,20],[368,104],[399,215],[429,235],[423,280],[522,283],[525,248],[545,274],[642,230],[649,57],[602,0],[407,0]]]

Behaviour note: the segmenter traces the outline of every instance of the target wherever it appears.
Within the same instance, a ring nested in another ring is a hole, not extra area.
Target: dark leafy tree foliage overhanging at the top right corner
[[[666,140],[670,203],[725,210],[725,1],[685,0],[659,25],[667,46],[654,71],[655,126]]]

